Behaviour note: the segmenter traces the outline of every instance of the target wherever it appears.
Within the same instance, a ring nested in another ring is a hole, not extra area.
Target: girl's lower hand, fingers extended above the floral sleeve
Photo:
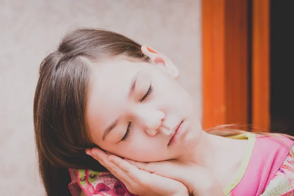
[[[139,196],[188,196],[188,189],[174,179],[140,170],[122,158],[109,155],[98,148],[86,153],[103,165],[109,172],[123,182],[127,190]]]

